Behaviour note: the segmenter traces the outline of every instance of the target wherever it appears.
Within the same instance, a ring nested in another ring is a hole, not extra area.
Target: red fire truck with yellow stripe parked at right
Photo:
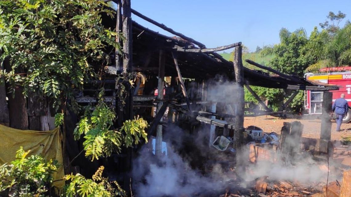
[[[333,67],[322,68],[321,74],[306,73],[305,77],[308,80],[317,80],[323,83],[334,84],[339,86],[339,90],[332,90],[333,102],[340,98],[342,93],[345,94],[345,99],[351,106],[351,66],[349,67]],[[305,91],[305,108],[308,114],[322,114],[323,91]],[[351,120],[351,110],[344,117],[343,122],[347,123]]]

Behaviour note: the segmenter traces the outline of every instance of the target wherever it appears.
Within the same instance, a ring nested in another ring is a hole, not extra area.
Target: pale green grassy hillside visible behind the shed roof
[[[232,54],[231,53],[219,53],[224,59],[226,60],[233,60]],[[248,64],[245,62],[246,59],[252,60],[254,62],[257,62],[259,64],[269,66],[269,61],[273,59],[274,55],[266,56],[266,57],[261,57],[259,53],[246,53],[243,54],[243,64],[247,68],[251,69],[259,69],[255,66],[252,66],[251,64]]]

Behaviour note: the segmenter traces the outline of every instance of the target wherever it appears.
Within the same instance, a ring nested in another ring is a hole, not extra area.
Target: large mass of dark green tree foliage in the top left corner
[[[36,91],[49,96],[56,107],[66,98],[73,108],[74,89],[97,79],[108,64],[108,46],[120,49],[116,33],[101,23],[112,17],[103,1],[0,0],[0,71],[14,91]]]

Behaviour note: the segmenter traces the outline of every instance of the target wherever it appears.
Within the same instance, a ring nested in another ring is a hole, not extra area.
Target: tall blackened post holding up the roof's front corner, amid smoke
[[[237,83],[237,97],[236,97],[236,117],[235,117],[235,128],[234,135],[236,137],[235,148],[236,148],[236,159],[237,159],[237,167],[238,172],[245,172],[243,152],[241,150],[242,145],[244,144],[244,108],[245,108],[245,100],[244,100],[244,66],[243,61],[241,59],[242,55],[242,47],[235,47],[234,53],[234,72],[235,72],[235,80]],[[235,94],[234,94],[235,95]]]

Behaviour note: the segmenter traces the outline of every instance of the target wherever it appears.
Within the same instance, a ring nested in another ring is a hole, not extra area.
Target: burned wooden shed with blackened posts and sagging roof
[[[113,1],[117,3],[116,17],[114,20],[103,17],[103,23],[123,34],[124,39],[116,38],[122,42],[123,53],[111,54],[114,61],[112,64],[106,65],[104,79],[88,82],[86,84],[87,88],[77,94],[75,99],[81,104],[97,102],[93,94],[96,92],[93,84],[104,83],[105,100],[114,104],[118,115],[116,127],[119,127],[124,120],[130,119],[134,115],[145,116],[150,121],[150,128],[148,128],[147,133],[149,136],[153,135],[156,137],[156,155],[161,154],[163,128],[169,124],[178,124],[180,127],[184,127],[184,123],[186,123],[187,130],[191,132],[199,122],[211,125],[206,131],[208,132],[206,135],[209,136],[209,144],[216,137],[216,128],[218,127],[224,128],[223,133],[225,136],[235,136],[237,142],[236,150],[238,155],[240,155],[245,115],[244,86],[249,89],[251,94],[257,98],[265,109],[260,114],[275,115],[284,114],[285,107],[291,102],[296,93],[292,94],[291,99],[287,100],[279,112],[273,112],[259,99],[250,86],[325,91],[323,101],[326,104],[324,106],[329,106],[328,104],[331,103],[331,93],[328,90],[338,88],[321,83],[317,84],[297,76],[286,75],[250,60],[247,60],[247,62],[267,72],[245,68],[242,63],[241,42],[234,41],[235,43],[227,46],[206,48],[204,44],[133,10],[130,0]],[[132,21],[132,13],[175,36],[165,36],[139,25],[137,22]],[[233,62],[225,60],[216,53],[217,51],[230,48],[235,48]],[[141,75],[137,77],[138,80],[135,82],[134,87],[127,87],[129,94],[126,97],[125,107],[121,110],[116,96],[120,83],[118,75],[131,72],[140,72]],[[273,74],[269,74],[269,72]],[[142,84],[144,76],[148,80],[145,84]],[[165,77],[167,78],[166,81]],[[216,81],[237,87],[231,93],[231,103],[208,100],[208,87]],[[164,89],[165,94],[163,94]],[[154,90],[158,90],[157,95],[154,94]],[[5,88],[0,88],[0,93],[1,91],[5,92]],[[4,114],[4,116],[0,117],[0,122],[9,123],[8,115],[6,119],[6,112],[4,112],[7,106],[4,95],[0,94],[2,96],[0,98],[0,101],[2,101],[0,113]],[[33,100],[28,99],[28,107],[34,109],[35,106],[33,106]],[[163,119],[167,107],[167,118]],[[153,108],[156,108],[154,117],[151,116]],[[326,108],[324,111],[322,124],[325,124],[325,126],[322,126],[321,131],[321,138],[324,140],[330,140],[331,122],[328,116],[330,110],[330,108]],[[47,113],[47,106],[42,111],[29,110],[26,113],[24,116],[27,117],[27,126],[29,117],[29,121],[32,119],[36,125],[36,128],[33,129],[37,130],[45,130],[47,128],[40,126],[41,116],[45,115],[51,118],[51,115],[54,115]],[[38,122],[34,121],[38,121],[38,118],[39,126]],[[68,132],[65,137],[68,144],[74,144],[72,131],[76,122],[73,121],[73,118],[68,122],[69,124],[66,124]],[[10,123],[10,125],[12,124]],[[46,123],[43,125],[46,125]],[[74,150],[70,154],[73,160],[74,156],[79,154],[77,144],[75,146],[72,145],[72,149]],[[126,166],[124,170],[128,171],[130,169],[132,150],[125,150],[124,153],[123,157],[125,158],[123,159]]]

